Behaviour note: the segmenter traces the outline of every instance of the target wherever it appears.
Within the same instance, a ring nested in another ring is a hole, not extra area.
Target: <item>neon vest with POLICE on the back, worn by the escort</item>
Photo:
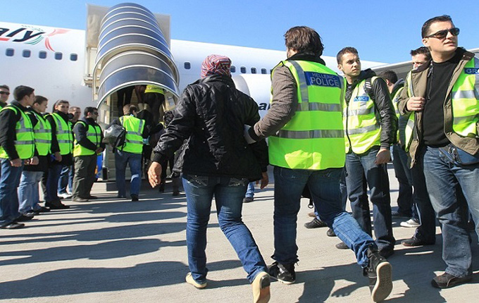
[[[292,119],[268,139],[270,164],[309,170],[342,168],[345,161],[342,77],[321,63],[278,64],[282,65],[290,69],[296,81],[298,107]]]

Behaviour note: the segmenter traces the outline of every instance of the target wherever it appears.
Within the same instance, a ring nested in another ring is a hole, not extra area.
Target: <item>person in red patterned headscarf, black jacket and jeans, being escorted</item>
[[[189,139],[182,167],[187,197],[187,283],[206,287],[206,227],[213,196],[221,230],[242,261],[253,288],[254,302],[268,302],[268,268],[241,218],[250,181],[268,184],[268,148],[264,140],[247,144],[244,125],[259,121],[258,105],[239,92],[230,75],[231,60],[211,55],[201,65],[201,79],[183,92],[174,118],[154,149],[149,182],[161,183],[161,164]]]

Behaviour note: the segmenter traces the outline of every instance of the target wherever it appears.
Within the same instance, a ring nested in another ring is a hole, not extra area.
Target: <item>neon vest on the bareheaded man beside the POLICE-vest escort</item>
[[[378,77],[371,78],[373,83]],[[366,80],[359,82],[346,104],[344,99],[344,135],[346,152],[364,154],[373,146],[380,146],[380,123],[375,115],[374,102],[364,89]],[[351,147],[349,146],[351,143]]]

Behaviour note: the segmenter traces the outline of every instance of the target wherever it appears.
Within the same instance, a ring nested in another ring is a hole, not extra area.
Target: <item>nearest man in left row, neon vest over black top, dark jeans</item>
[[[33,218],[18,212],[17,188],[23,165],[38,164],[32,123],[25,114],[35,99],[34,90],[23,85],[15,87],[15,101],[0,111],[0,228],[23,228],[18,221]]]

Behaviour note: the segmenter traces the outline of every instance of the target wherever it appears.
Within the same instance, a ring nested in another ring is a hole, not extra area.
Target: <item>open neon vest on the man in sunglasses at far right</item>
[[[472,58],[452,87],[452,130],[463,137],[478,137],[479,58]]]

